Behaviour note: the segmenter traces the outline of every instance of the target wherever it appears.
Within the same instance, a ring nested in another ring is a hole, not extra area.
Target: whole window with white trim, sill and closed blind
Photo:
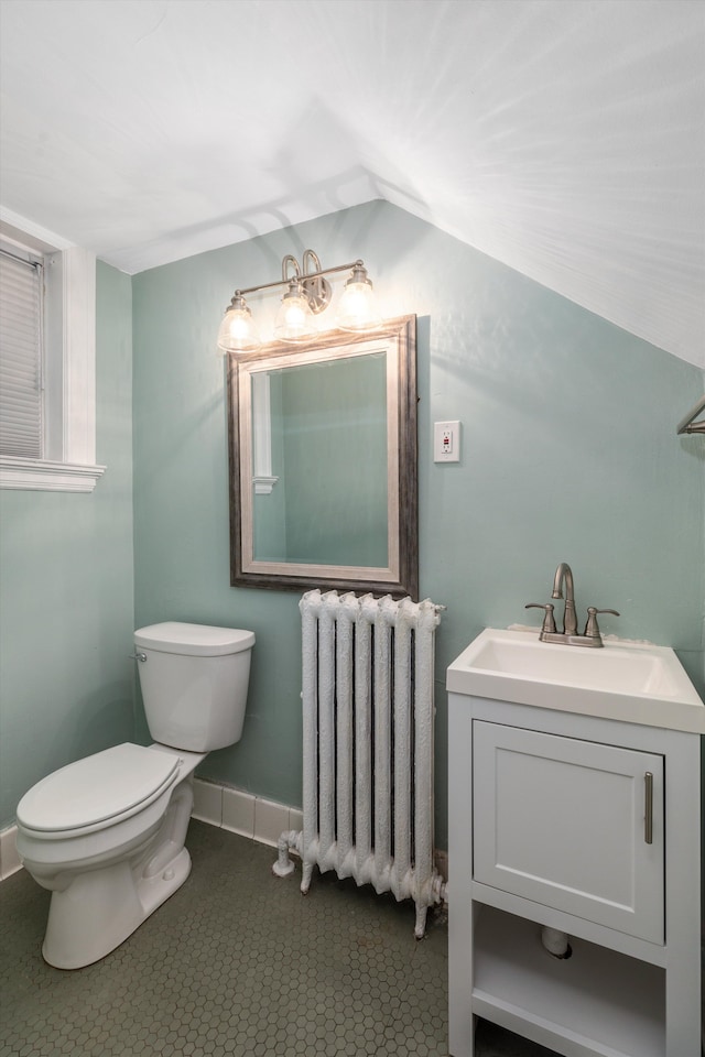
[[[95,255],[4,210],[0,238],[0,487],[90,492],[105,470],[96,466]]]

